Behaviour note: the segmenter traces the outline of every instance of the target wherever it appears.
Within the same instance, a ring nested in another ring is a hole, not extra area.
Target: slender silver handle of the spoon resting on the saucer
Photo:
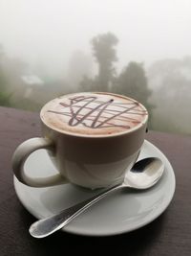
[[[95,204],[98,200],[100,200],[101,198],[105,198],[111,192],[114,192],[117,189],[122,187],[123,185],[121,184],[116,185],[114,187],[110,187],[100,192],[96,196],[92,198],[88,198],[82,202],[79,202],[74,206],[61,211],[58,214],[55,214],[44,220],[35,221],[34,223],[32,223],[30,227],[30,230],[29,230],[30,234],[34,238],[44,238],[53,234],[55,231],[67,225],[70,221],[73,221],[76,216],[84,212],[90,206]]]

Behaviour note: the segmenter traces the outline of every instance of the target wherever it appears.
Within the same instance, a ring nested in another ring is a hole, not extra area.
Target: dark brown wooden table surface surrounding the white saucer
[[[33,239],[35,221],[18,200],[12,182],[11,155],[24,140],[40,136],[38,114],[0,107],[0,255],[191,255],[191,137],[149,131],[147,139],[169,159],[176,193],[167,210],[136,231],[112,237],[84,237],[57,232]],[[70,254],[71,254],[70,253]]]

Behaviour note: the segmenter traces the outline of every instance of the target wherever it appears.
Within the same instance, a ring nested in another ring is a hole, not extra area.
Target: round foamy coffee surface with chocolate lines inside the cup
[[[110,93],[76,93],[49,102],[41,119],[60,132],[81,135],[111,135],[131,130],[147,120],[147,111],[137,101]]]

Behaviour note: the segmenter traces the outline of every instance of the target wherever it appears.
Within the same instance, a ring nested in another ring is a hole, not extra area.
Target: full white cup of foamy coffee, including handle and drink
[[[16,149],[14,175],[34,187],[71,182],[95,189],[122,183],[141,151],[148,113],[122,95],[84,92],[52,100],[40,117],[42,137]],[[53,176],[31,177],[24,170],[28,156],[39,149],[49,152],[57,169]]]

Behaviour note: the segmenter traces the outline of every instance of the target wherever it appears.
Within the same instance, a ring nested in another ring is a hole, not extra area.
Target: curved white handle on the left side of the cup
[[[60,174],[49,177],[30,177],[24,170],[24,164],[33,151],[40,149],[54,151],[53,143],[44,138],[32,138],[20,144],[12,155],[12,170],[20,182],[31,187],[48,187],[68,183]]]

